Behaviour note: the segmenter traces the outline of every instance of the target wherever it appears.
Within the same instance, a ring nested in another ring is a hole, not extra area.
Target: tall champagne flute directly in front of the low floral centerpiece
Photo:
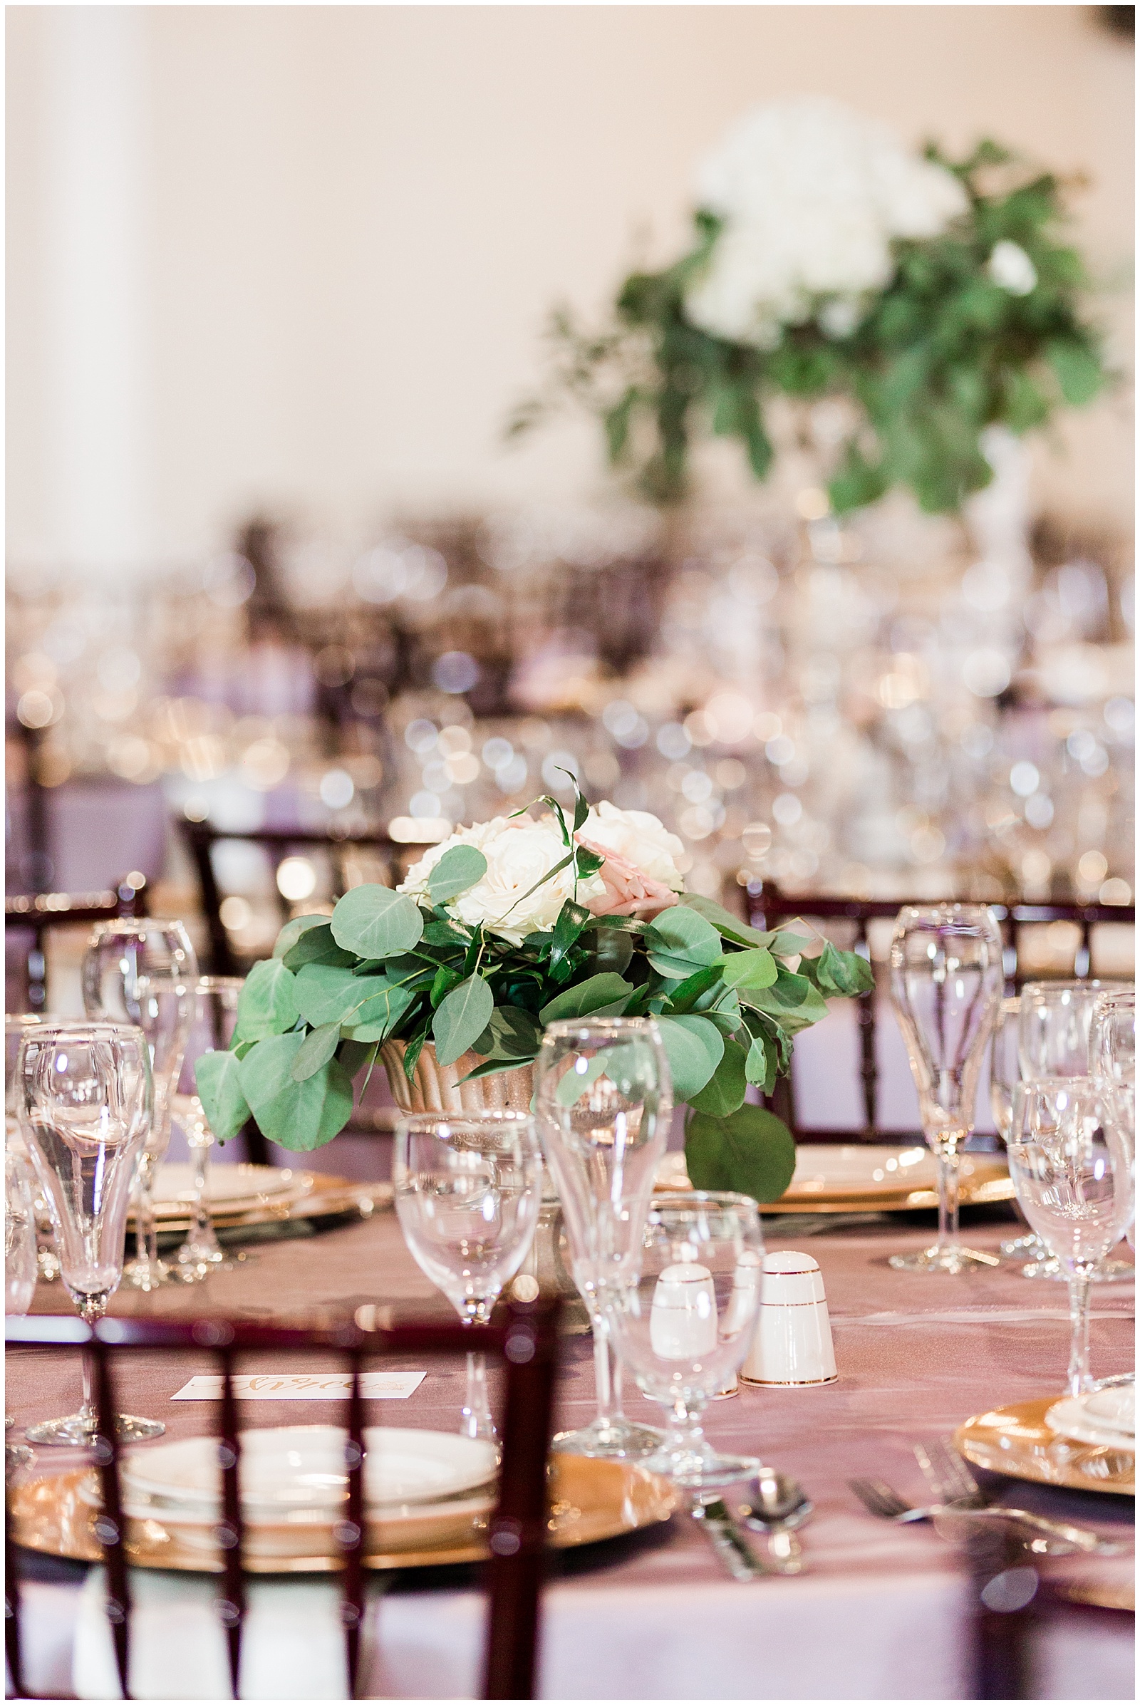
[[[656,1427],[622,1413],[620,1364],[610,1369],[602,1291],[632,1275],[658,1161],[673,1113],[661,1035],[648,1018],[573,1018],[550,1025],[535,1067],[535,1112],[571,1246],[574,1284],[590,1309],[598,1413],[561,1432],[561,1451],[636,1458],[656,1451]]]

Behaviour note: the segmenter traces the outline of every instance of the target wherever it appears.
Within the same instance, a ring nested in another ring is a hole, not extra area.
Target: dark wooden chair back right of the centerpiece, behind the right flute
[[[843,943],[852,946],[855,953],[862,953],[864,958],[871,958],[869,928],[876,919],[893,921],[898,917],[903,905],[925,905],[929,900],[854,900],[838,895],[786,895],[774,883],[757,883],[748,887],[748,919],[757,929],[769,929],[789,917],[811,917],[820,922],[837,922],[843,921],[852,924],[854,939]],[[1022,982],[1029,980],[1033,975],[1039,975],[1034,970],[1024,968],[1022,960],[1022,938],[1024,931],[1041,924],[1075,924],[1079,929],[1079,946],[1074,962],[1074,975],[1087,977],[1091,974],[1092,963],[1092,929],[1097,924],[1131,924],[1137,922],[1135,905],[1079,905],[1067,902],[988,902],[999,924],[1002,926],[1002,939],[1005,943],[1004,951],[1004,968],[1005,968],[1005,992],[1016,994]],[[796,1120],[796,1095],[792,1086],[792,1078],[782,1078],[775,1093],[770,1098],[774,1112],[791,1127],[794,1136],[803,1141],[843,1141],[852,1142],[861,1137],[864,1142],[874,1142],[881,1137],[879,1134],[879,1066],[876,1050],[878,1035],[878,991],[867,989],[866,994],[857,997],[857,1020],[859,1020],[859,1079],[861,1079],[861,1098],[862,1098],[862,1129],[861,1130],[816,1130],[803,1129]],[[898,1132],[890,1134],[890,1141],[896,1141]]]

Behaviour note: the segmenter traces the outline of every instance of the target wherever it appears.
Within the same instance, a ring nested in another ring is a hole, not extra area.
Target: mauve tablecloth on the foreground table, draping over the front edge
[[[970,1240],[993,1246],[999,1228]],[[770,1246],[799,1240],[770,1238]],[[542,1695],[547,1698],[970,1698],[970,1582],[958,1553],[927,1526],[874,1521],[847,1490],[850,1475],[881,1475],[905,1492],[922,1485],[915,1439],[946,1434],[966,1415],[1060,1390],[1067,1354],[1065,1291],[1002,1267],[961,1279],[896,1274],[888,1253],[929,1241],[913,1226],[876,1224],[815,1236],[808,1248],[826,1286],[840,1378],[804,1391],[741,1390],[714,1405],[716,1442],[762,1454],[797,1475],[816,1514],[803,1529],[809,1572],[794,1581],[728,1581],[704,1536],[677,1516],[659,1529],[566,1553],[544,1599]],[[283,1311],[344,1315],[361,1303],[446,1304],[414,1267],[390,1212],[320,1236],[262,1245],[256,1263],[206,1287],[114,1299],[116,1313],[228,1313],[269,1320]],[[43,1287],[37,1311],[63,1311],[60,1287]],[[1133,1289],[1099,1287],[1092,1357],[1097,1374],[1133,1366]],[[278,1359],[279,1361],[279,1359]],[[308,1362],[315,1369],[315,1362]],[[252,1364],[250,1364],[252,1366]],[[262,1359],[262,1367],[264,1367]],[[303,1366],[303,1364],[302,1364]],[[201,1403],[170,1396],[204,1359],[133,1354],[119,1359],[124,1408],[167,1424],[169,1437],[211,1427]],[[34,1371],[32,1371],[34,1369]],[[73,1357],[9,1357],[9,1408],[17,1424],[75,1407]],[[389,1424],[452,1429],[463,1390],[457,1364],[429,1369],[416,1395],[389,1403]],[[593,1410],[590,1340],[569,1338],[559,1425]],[[659,1419],[637,1393],[627,1410]],[[324,1403],[257,1403],[249,1425],[332,1420]],[[72,1466],[41,1451],[41,1466]],[[1017,1485],[1022,1504],[1075,1519],[1126,1523],[1123,1500]],[[32,1562],[26,1553],[26,1562]],[[1070,1570],[1068,1562],[1046,1563]],[[1087,1563],[1080,1567],[1087,1569]],[[1121,1565],[1097,1562],[1101,1575]],[[78,1565],[36,1560],[26,1587],[29,1685],[70,1690]],[[1130,1618],[1053,1616],[1034,1639],[1036,1698],[1131,1698]],[[479,1681],[482,1599],[474,1581],[409,1570],[373,1615],[366,1686],[373,1696],[472,1696]],[[170,1676],[169,1696],[189,1696]],[[158,1696],[148,1691],[147,1696]],[[213,1696],[213,1695],[211,1695]],[[281,1695],[285,1696],[285,1695]],[[315,1693],[297,1696],[319,1696]],[[325,1696],[331,1696],[325,1693]]]

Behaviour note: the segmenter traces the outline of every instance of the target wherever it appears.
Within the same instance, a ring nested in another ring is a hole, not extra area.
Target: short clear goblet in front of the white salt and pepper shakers
[[[757,1204],[728,1192],[656,1195],[639,1267],[610,1277],[602,1294],[620,1362],[668,1412],[668,1430],[642,1466],[692,1488],[755,1475],[760,1459],[716,1451],[700,1415],[751,1345],[763,1280]]]

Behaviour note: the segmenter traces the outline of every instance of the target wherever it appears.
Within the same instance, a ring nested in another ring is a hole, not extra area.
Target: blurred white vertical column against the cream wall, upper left
[[[145,9],[44,24],[49,527],[63,561],[131,575],[152,540]]]

